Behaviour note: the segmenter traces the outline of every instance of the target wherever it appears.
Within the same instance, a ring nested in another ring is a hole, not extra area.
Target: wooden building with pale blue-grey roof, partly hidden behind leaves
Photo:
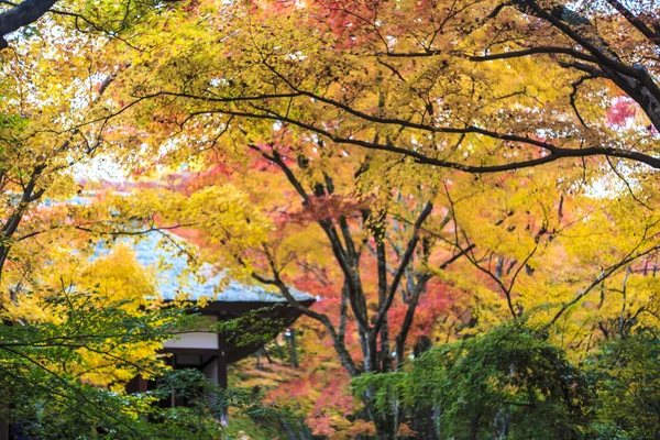
[[[175,241],[175,248],[168,250],[160,245],[162,234],[150,235],[130,243],[138,261],[145,267],[157,267],[157,287],[165,300],[174,300],[177,296],[194,301],[205,298],[205,306],[199,311],[209,320],[209,326],[255,310],[260,310],[255,317],[257,320],[275,319],[284,326],[290,326],[300,316],[300,312],[290,307],[283,296],[257,285],[227,282],[223,279],[223,274],[213,274],[210,266],[201,267],[201,272],[206,272],[207,275],[204,280],[187,274],[187,257],[180,252],[175,252],[176,242],[182,239],[166,235],[166,240]],[[315,302],[312,296],[302,292],[292,289],[292,294],[296,300],[307,307]],[[250,332],[253,329],[244,328],[241,331]],[[228,365],[251,355],[265,343],[261,340],[237,344],[233,340],[231,334],[218,334],[211,331],[182,333],[165,342],[163,351],[172,354],[168,360],[174,369],[199,370],[211,383],[227,387]],[[139,376],[129,384],[128,389],[143,392],[147,387],[147,382]],[[174,397],[172,405],[176,405]]]

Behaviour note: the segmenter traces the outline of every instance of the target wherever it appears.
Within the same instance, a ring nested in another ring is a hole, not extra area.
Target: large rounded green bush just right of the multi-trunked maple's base
[[[378,408],[399,405],[427,438],[586,438],[593,417],[587,374],[517,323],[433,348],[402,372],[356,383],[362,392],[370,386]]]

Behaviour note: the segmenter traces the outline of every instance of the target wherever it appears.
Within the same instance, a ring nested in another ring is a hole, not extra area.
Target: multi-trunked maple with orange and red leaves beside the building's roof
[[[433,188],[409,186],[396,173],[375,179],[371,155],[336,155],[322,144],[296,142],[284,128],[272,135],[271,144],[246,145],[235,156],[210,152],[206,166],[215,169],[170,187],[188,195],[189,208],[165,210],[161,221],[191,224],[202,233],[197,241],[206,261],[271,286],[322,326],[349,376],[396,370],[436,326],[432,309],[418,310],[427,296],[439,301],[438,315],[455,318],[439,298],[443,287],[430,282],[464,252],[421,233],[438,223],[438,234],[451,243],[442,231],[447,209],[433,208]],[[234,195],[249,196],[242,233],[218,222],[228,209],[219,197],[226,182],[237,186]],[[420,199],[427,199],[421,208]],[[260,224],[266,228],[255,235]],[[293,288],[322,299],[308,308]],[[369,410],[370,394],[362,399]],[[396,432],[392,414],[372,417],[381,436]]]

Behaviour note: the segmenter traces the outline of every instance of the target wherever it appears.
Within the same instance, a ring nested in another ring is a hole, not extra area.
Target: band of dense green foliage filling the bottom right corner
[[[400,372],[364,375],[378,410],[402,408],[424,438],[653,439],[658,336],[639,329],[578,364],[520,322],[436,346]]]

